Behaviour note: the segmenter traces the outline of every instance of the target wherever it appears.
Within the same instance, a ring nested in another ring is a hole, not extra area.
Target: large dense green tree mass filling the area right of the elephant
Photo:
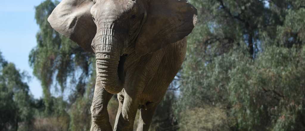
[[[217,110],[210,117],[224,124],[217,130],[303,130],[305,2],[190,2],[199,15],[181,71],[178,122]]]

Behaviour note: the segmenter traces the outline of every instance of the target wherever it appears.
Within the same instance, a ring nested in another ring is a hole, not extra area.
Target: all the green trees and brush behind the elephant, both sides
[[[156,131],[305,130],[305,1],[189,0],[198,22],[187,57],[156,110]],[[0,55],[0,130],[85,131],[91,125],[94,56],[47,22],[59,2],[36,6],[29,54],[43,98]],[[108,111],[113,124],[116,96]]]

